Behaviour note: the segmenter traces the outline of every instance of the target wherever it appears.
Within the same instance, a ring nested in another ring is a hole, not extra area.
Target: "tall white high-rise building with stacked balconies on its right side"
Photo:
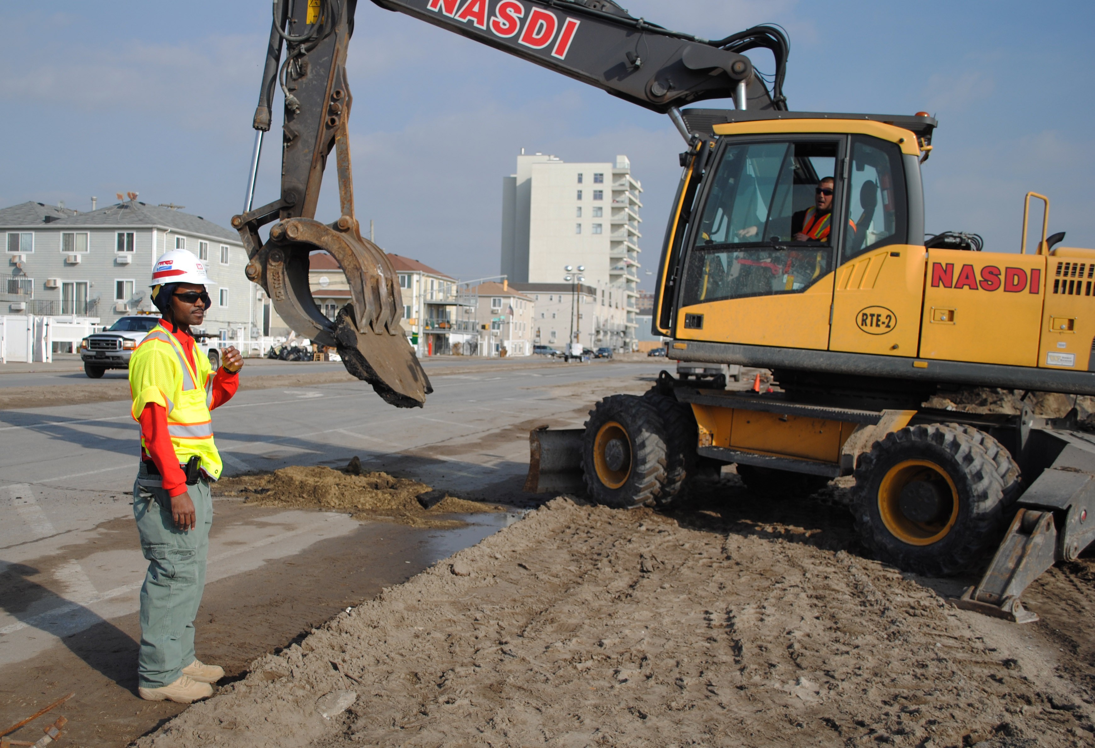
[[[583,332],[593,333],[598,345],[632,347],[642,192],[626,156],[614,163],[567,163],[522,153],[517,173],[503,180],[502,273],[535,292],[538,284],[564,283],[567,265],[584,266],[581,285],[597,298],[589,318],[583,313]]]

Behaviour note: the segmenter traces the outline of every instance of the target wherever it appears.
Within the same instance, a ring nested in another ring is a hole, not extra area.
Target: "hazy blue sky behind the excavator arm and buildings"
[[[1095,246],[1095,3],[622,4],[710,38],[782,24],[794,110],[935,114],[929,231],[976,231],[987,250],[1015,252],[1033,189],[1052,200],[1050,232]],[[104,205],[131,189],[228,226],[242,207],[269,7],[4,3],[0,206],[85,210],[92,195]],[[766,53],[754,59],[771,70]],[[645,189],[642,260],[656,266],[682,145],[667,117],[367,0],[348,76],[357,212],[376,219],[387,250],[463,278],[497,273],[502,177],[523,147],[567,161],[626,153]],[[277,194],[277,158],[266,151],[256,203]],[[318,218],[332,220],[333,180],[324,189]]]

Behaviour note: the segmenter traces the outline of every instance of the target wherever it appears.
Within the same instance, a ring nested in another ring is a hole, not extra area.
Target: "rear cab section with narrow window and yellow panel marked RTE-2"
[[[908,243],[901,150],[853,135],[846,175],[829,349],[915,356],[926,251]]]

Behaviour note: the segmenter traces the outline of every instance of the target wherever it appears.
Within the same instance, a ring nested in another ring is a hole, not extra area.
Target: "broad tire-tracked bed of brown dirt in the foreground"
[[[1085,694],[1044,674],[1031,641],[998,641],[1002,622],[795,528],[738,527],[555,499],[260,658],[137,745],[1092,739]]]

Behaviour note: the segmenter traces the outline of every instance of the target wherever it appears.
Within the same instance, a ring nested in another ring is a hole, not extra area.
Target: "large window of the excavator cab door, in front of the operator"
[[[832,269],[828,238],[798,241],[794,232],[839,149],[838,140],[724,148],[689,253],[684,304],[800,294]]]

